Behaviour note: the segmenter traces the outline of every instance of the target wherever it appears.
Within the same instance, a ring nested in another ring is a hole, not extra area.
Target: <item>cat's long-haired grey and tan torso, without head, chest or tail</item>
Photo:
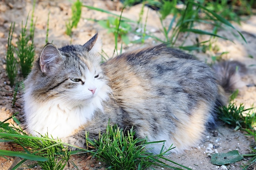
[[[174,143],[176,151],[199,142],[223,103],[211,68],[166,45],[121,54],[102,67],[119,125],[135,125],[139,137]]]

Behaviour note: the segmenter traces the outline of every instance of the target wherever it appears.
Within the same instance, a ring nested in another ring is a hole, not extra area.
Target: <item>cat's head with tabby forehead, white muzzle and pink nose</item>
[[[90,103],[99,95],[106,96],[99,50],[98,34],[84,45],[57,49],[47,44],[25,81],[25,92],[30,91],[38,101],[58,98],[71,105]]]

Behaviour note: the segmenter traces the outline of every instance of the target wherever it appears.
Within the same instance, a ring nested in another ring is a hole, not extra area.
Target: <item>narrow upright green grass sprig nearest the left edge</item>
[[[16,76],[17,76],[17,59],[14,56],[14,47],[11,44],[13,31],[15,28],[15,22],[9,29],[9,36],[8,36],[8,46],[7,46],[7,52],[6,52],[6,73],[10,81],[10,85],[13,86],[16,84]]]

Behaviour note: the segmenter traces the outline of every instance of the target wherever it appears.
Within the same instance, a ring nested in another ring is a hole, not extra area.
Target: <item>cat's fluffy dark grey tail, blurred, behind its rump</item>
[[[225,92],[233,92],[245,86],[245,82],[241,80],[247,72],[243,63],[238,61],[221,61],[214,64],[212,69],[216,73],[219,85],[223,87]]]

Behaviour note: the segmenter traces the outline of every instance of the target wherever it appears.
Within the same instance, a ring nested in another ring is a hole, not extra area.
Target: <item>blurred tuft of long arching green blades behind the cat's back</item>
[[[175,20],[177,14],[174,14],[173,20]],[[202,18],[201,16],[205,16],[204,18]],[[169,31],[171,31],[171,27],[174,23],[174,21],[171,20],[170,25],[167,29],[167,31],[165,31],[164,29],[164,34],[167,37],[166,34],[168,34]],[[208,35],[210,37],[218,37],[218,38],[222,38],[225,40],[228,40],[225,37],[219,36],[217,33],[217,30],[222,28],[221,25],[226,25],[227,27],[236,30],[229,21],[227,21],[225,18],[222,18],[221,16],[219,16],[217,13],[210,11],[209,9],[205,8],[204,6],[202,6],[202,4],[200,3],[195,3],[193,1],[188,1],[186,3],[186,8],[181,11],[181,16],[180,18],[177,19],[177,24],[175,25],[175,27],[172,30],[172,35],[169,39],[167,39],[168,41],[171,42],[172,45],[175,45],[176,40],[178,39],[180,33],[185,33],[185,39],[184,42],[186,40],[187,37],[189,37],[190,33],[194,33],[194,34],[198,34],[198,35]],[[215,29],[213,29],[212,32],[208,32],[208,31],[204,31],[204,30],[200,30],[200,29],[195,29],[194,25],[195,23],[206,23],[209,25],[213,25],[215,26]],[[163,26],[164,27],[164,26]],[[243,38],[243,40],[246,42],[245,38],[243,37],[243,35],[241,35],[241,33],[239,31],[237,31],[238,34],[240,34],[240,36]],[[188,49],[187,47],[183,47],[183,44],[180,46],[180,48],[182,49]],[[198,49],[198,45],[197,47],[194,46],[194,48],[192,48],[191,46],[189,46],[189,49]]]

